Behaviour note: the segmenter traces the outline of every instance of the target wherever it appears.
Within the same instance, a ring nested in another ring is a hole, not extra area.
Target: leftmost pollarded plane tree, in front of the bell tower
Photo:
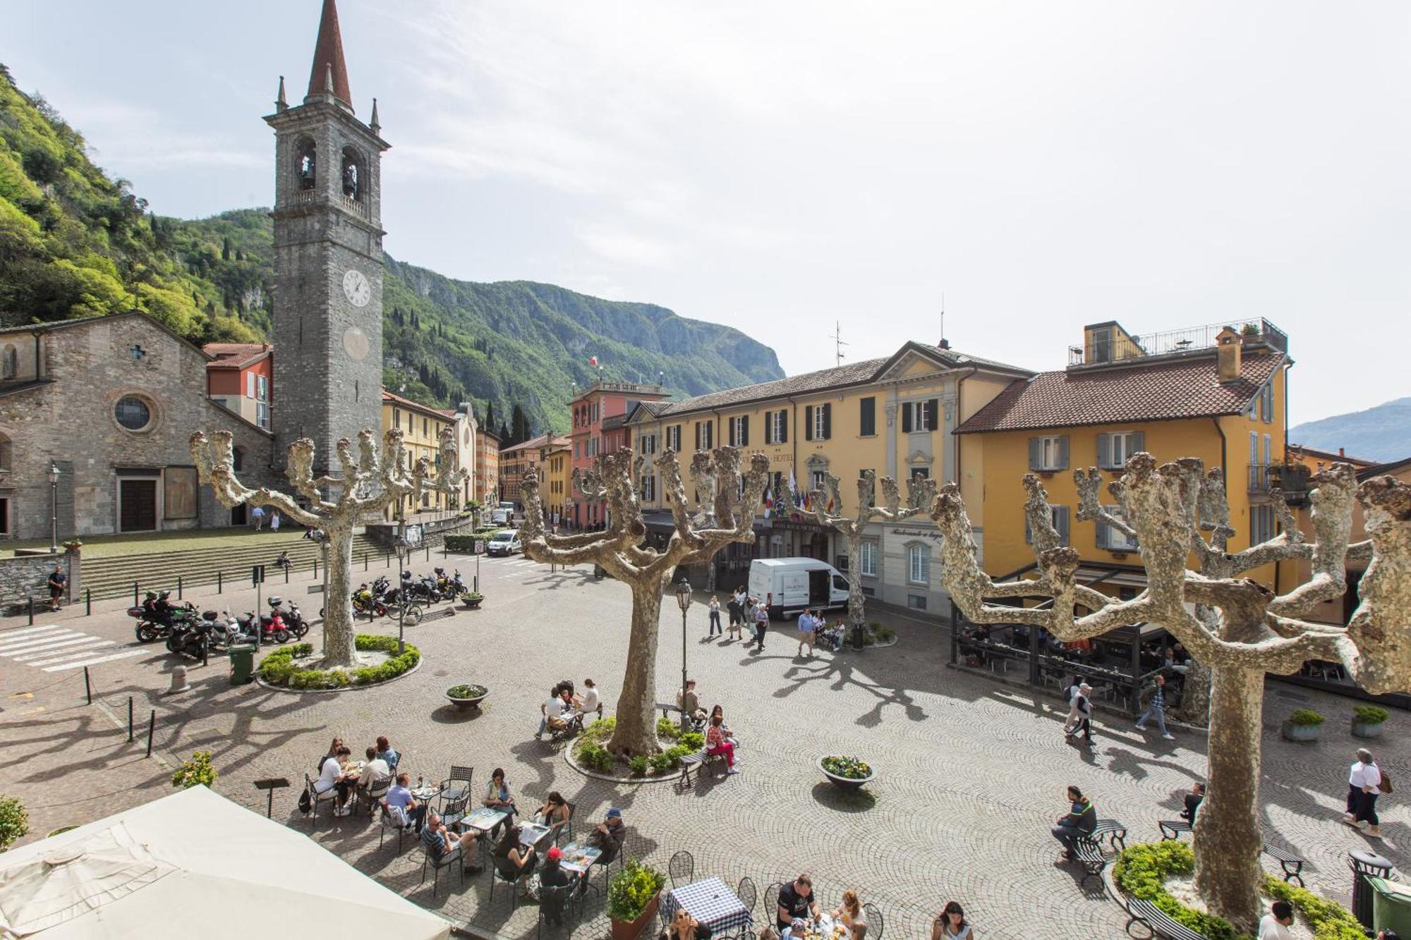
[[[360,665],[353,646],[353,529],[365,517],[380,514],[405,497],[419,502],[422,495],[439,490],[454,498],[463,476],[460,470],[454,470],[456,433],[450,428],[440,436],[440,470],[435,470],[428,457],[411,462],[399,429],[387,432],[381,454],[377,436],[368,429],[358,432],[356,457],[347,438],[339,439],[336,450],[343,476],[315,477],[313,442],[299,438],[289,445],[285,476],[293,491],[303,498],[301,502],[279,490],[253,490],[240,483],[229,430],[217,430],[209,442],[199,430],[190,436],[190,456],[196,462],[200,481],[214,490],[222,505],[271,507],[301,525],[322,529],[327,536],[329,586],[320,669]],[[334,491],[334,498],[325,497]]]

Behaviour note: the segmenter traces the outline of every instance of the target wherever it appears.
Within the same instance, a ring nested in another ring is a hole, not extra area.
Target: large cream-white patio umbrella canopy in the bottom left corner
[[[450,924],[205,786],[0,855],[0,936],[440,940]]]

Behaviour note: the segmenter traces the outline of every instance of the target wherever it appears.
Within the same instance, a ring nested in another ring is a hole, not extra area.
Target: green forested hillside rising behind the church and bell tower
[[[265,209],[200,220],[148,213],[0,66],[0,320],[135,305],[195,342],[267,337],[271,247]],[[391,391],[432,405],[474,401],[495,429],[518,408],[521,433],[567,429],[564,402],[598,377],[594,356],[605,378],[660,375],[693,395],[783,375],[769,347],[666,308],[547,284],[453,281],[389,257],[384,337]]]

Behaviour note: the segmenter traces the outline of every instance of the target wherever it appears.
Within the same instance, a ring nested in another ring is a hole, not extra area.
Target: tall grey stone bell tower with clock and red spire
[[[334,445],[381,435],[382,151],[377,99],[353,110],[334,0],[323,0],[309,93],[274,114],[275,463],[298,438],[316,446],[315,474],[339,470]]]

